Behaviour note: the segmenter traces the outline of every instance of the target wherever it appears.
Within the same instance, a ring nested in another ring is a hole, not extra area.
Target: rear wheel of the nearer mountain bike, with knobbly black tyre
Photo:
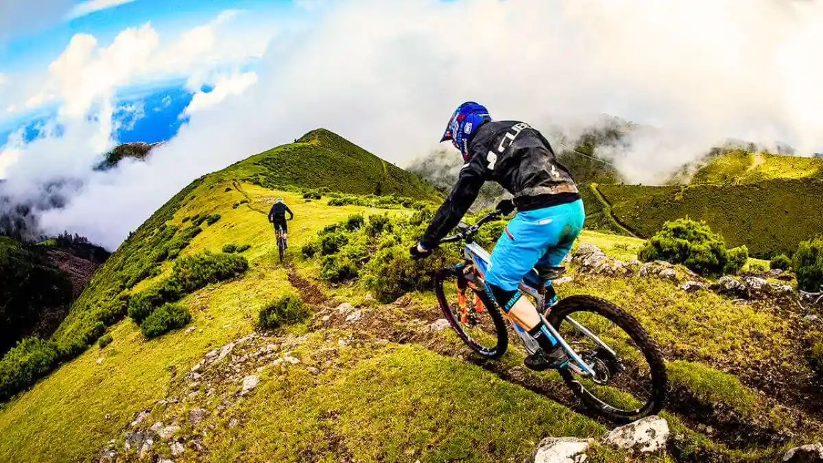
[[[668,388],[663,354],[635,317],[598,297],[570,296],[546,319],[596,373],[586,377],[569,367],[560,369],[566,385],[585,405],[618,423],[663,409]],[[580,330],[581,325],[611,352]]]

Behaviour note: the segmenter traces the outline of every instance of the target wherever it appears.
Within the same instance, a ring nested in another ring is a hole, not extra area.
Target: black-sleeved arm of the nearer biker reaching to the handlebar
[[[457,227],[460,219],[463,218],[472,207],[472,203],[480,194],[480,187],[483,186],[486,175],[486,161],[480,154],[475,154],[463,168],[460,169],[458,181],[452,187],[449,196],[435,213],[429,227],[426,228],[421,245],[430,250],[437,246],[438,241],[443,239],[454,227]]]

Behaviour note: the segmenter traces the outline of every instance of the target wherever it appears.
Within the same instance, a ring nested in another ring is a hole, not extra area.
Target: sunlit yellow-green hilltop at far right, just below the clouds
[[[714,157],[695,172],[692,184],[751,184],[777,179],[821,179],[823,159],[736,151]]]

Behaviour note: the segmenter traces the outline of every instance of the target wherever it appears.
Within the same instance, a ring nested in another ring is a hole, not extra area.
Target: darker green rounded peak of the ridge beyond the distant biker
[[[420,177],[325,129],[239,161],[223,175],[269,189],[326,187],[349,194],[396,194],[414,199],[439,195]]]

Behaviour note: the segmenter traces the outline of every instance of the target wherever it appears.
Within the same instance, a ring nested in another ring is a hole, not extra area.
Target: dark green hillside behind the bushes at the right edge
[[[797,243],[823,233],[823,182],[768,180],[749,185],[600,185],[611,212],[640,236],[680,217],[704,220],[728,246],[751,255],[790,253]]]

